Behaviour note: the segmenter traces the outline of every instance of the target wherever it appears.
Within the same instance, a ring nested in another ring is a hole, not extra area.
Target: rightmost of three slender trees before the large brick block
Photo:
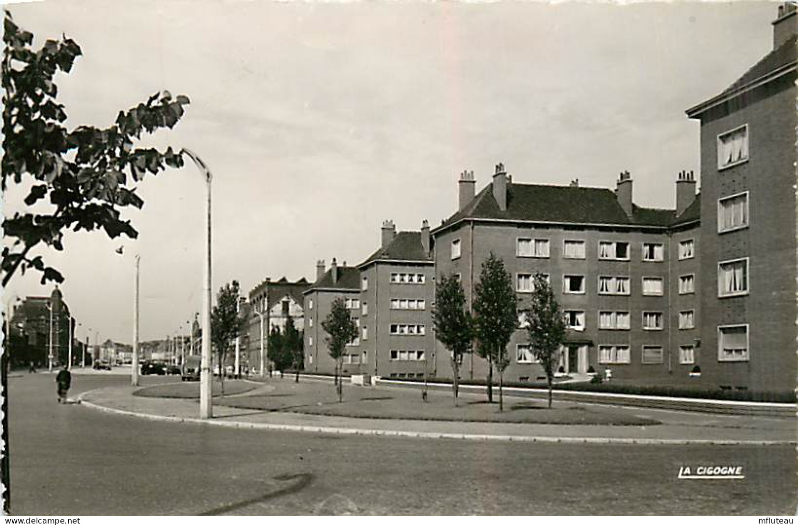
[[[551,384],[559,365],[560,347],[565,342],[565,317],[554,291],[543,274],[532,278],[531,305],[526,310],[529,345],[543,367],[548,385],[548,408],[551,409]]]

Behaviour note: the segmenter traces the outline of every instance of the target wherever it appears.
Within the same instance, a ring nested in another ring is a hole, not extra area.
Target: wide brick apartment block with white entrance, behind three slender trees
[[[546,275],[567,318],[561,373],[610,369],[612,377],[663,383],[695,377],[698,311],[685,293],[674,316],[670,293],[695,264],[689,247],[696,246],[699,205],[690,173],[678,176],[677,210],[634,204],[629,172],[612,191],[584,188],[577,180],[570,186],[519,184],[497,164],[491,184],[478,194],[473,172],[463,172],[458,186],[459,210],[431,232],[436,274],[456,274],[470,308],[484,261],[491,253],[504,260],[519,303],[506,379],[543,377],[523,330],[536,272]],[[461,377],[487,371],[486,361],[469,355]],[[448,359],[437,360],[437,373],[451,377]]]

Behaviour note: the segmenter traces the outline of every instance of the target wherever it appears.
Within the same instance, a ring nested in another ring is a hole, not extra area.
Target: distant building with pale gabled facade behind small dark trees
[[[269,355],[271,330],[285,330],[289,317],[293,318],[296,329],[302,330],[305,324],[303,294],[309,287],[304,277],[295,282],[285,277],[274,282],[266,278],[250,291],[249,301],[242,305],[241,314],[247,319],[247,327],[239,338],[239,351],[246,355],[251,373],[262,369],[261,345],[263,355]]]

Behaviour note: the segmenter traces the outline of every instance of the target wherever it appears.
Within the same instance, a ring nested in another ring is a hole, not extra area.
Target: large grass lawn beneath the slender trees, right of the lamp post
[[[366,417],[371,419],[415,419],[449,421],[484,421],[504,423],[544,424],[610,424],[651,425],[658,420],[632,416],[623,409],[595,405],[578,405],[555,401],[552,409],[546,401],[530,399],[504,399],[504,412],[499,412],[499,391],[494,392],[494,403],[488,404],[485,395],[460,393],[458,406],[454,406],[451,391],[428,393],[427,402],[421,401],[420,389],[402,389],[389,386],[361,387],[344,384],[344,401],[338,403],[335,387],[326,381],[300,381],[292,378],[274,378],[267,385],[275,387],[267,393],[251,396],[223,398],[215,401],[239,409],[267,412],[294,412],[323,416]]]

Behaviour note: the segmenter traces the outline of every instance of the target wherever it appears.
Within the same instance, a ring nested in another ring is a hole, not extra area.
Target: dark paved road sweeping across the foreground
[[[144,384],[164,378],[144,377]],[[76,375],[76,395],[122,385]],[[15,515],[780,515],[791,446],[478,443],[213,428],[58,405],[45,373],[10,379]],[[741,464],[745,480],[678,480]]]

